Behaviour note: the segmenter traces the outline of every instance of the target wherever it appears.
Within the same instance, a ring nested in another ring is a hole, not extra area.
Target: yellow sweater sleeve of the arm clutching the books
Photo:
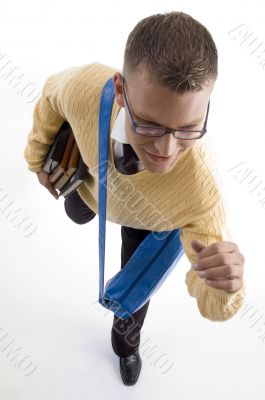
[[[50,145],[56,133],[67,120],[67,89],[66,86],[82,66],[64,69],[47,78],[40,98],[33,110],[33,124],[24,149],[24,159],[32,172],[42,170]]]

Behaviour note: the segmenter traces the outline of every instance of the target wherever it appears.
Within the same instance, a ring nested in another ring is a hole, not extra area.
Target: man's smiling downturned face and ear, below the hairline
[[[200,139],[175,139],[172,133],[160,137],[147,137],[135,133],[126,107],[122,76],[116,72],[113,77],[115,100],[125,107],[125,129],[130,145],[144,168],[152,173],[170,172],[180,155]],[[177,130],[200,130],[206,116],[208,101],[215,81],[199,92],[176,94],[168,88],[151,81],[146,72],[125,77],[125,91],[133,120],[140,125],[160,125]],[[195,122],[194,122],[195,121]],[[197,122],[196,122],[197,121]],[[164,157],[156,159],[151,155]]]

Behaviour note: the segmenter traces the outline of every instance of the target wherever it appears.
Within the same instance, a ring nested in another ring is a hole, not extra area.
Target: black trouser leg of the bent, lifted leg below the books
[[[68,217],[76,224],[86,224],[96,215],[82,200],[77,190],[64,199],[64,209]]]

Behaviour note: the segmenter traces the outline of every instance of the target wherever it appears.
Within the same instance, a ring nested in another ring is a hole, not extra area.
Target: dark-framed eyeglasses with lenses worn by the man
[[[129,117],[130,117],[130,122],[132,129],[135,133],[139,135],[144,135],[144,136],[163,136],[166,133],[172,133],[174,138],[176,139],[182,139],[182,140],[194,140],[194,139],[200,139],[205,133],[207,132],[206,129],[206,124],[207,124],[207,119],[208,119],[208,113],[209,113],[209,108],[210,108],[210,100],[208,102],[207,106],[207,112],[206,112],[206,117],[205,121],[203,123],[203,128],[201,130],[189,130],[189,129],[171,129],[171,128],[166,128],[166,127],[156,127],[156,126],[147,126],[147,125],[138,125],[134,122],[133,116],[131,109],[129,107],[129,101],[125,92],[125,79],[122,77],[122,85],[123,85],[123,92],[124,92],[124,98],[125,98],[125,104],[127,106],[128,112],[129,112]]]

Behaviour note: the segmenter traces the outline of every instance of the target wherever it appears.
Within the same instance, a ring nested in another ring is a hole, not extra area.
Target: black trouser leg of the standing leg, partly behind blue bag
[[[151,231],[144,229],[121,226],[121,269],[126,265],[139,244],[150,232]],[[126,319],[120,319],[114,314],[111,330],[111,344],[114,352],[119,357],[126,357],[139,349],[140,332],[149,303],[150,300],[139,310],[135,311],[131,317]]]

